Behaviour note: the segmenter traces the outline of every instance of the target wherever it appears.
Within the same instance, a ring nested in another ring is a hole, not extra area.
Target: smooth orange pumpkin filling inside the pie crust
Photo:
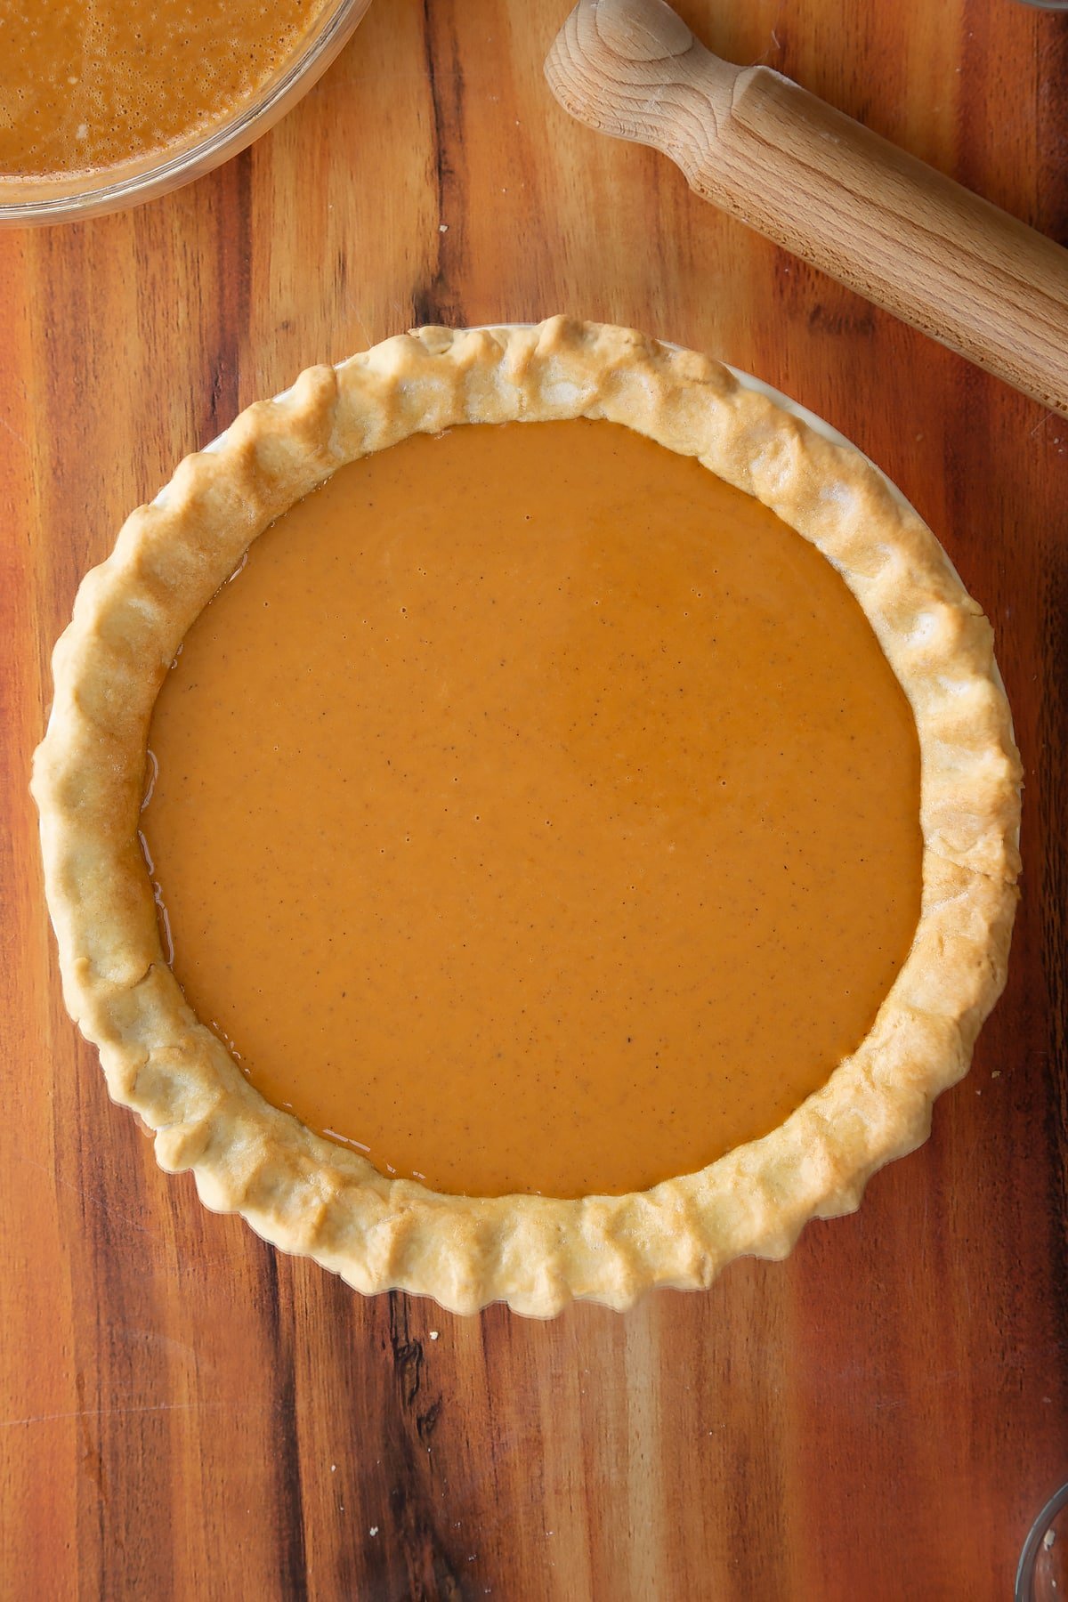
[[[769,1133],[919,918],[916,726],[860,606],[608,423],[343,468],[200,614],[149,745],[189,1003],[437,1190],[642,1190]]]

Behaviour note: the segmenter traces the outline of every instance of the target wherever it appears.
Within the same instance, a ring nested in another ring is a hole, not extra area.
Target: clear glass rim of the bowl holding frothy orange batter
[[[0,226],[80,221],[102,211],[118,211],[178,189],[210,173],[259,138],[307,93],[346,43],[371,0],[335,0],[311,32],[258,93],[223,122],[191,135],[167,151],[138,155],[115,167],[88,173],[56,173],[45,178],[13,178],[0,173]]]

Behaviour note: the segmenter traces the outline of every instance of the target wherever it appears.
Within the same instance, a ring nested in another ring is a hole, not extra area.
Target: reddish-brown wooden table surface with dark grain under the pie
[[[567,0],[376,0],[279,128],[0,235],[0,1592],[994,1599],[1068,1477],[1068,423],[549,99]],[[1068,240],[1068,18],[692,0]],[[30,751],[78,577],[307,362],[568,309],[762,375],[876,458],[998,631],[1028,771],[1009,988],[932,1141],[786,1264],[532,1323],[363,1301],[163,1177],[69,1024]]]

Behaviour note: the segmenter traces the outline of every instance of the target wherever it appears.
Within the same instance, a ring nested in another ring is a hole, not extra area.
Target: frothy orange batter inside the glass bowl
[[[253,99],[328,0],[0,0],[0,173],[115,167]]]

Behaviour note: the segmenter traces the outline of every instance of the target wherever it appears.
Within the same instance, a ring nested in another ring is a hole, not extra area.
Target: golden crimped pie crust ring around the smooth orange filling
[[[842,574],[916,716],[921,920],[866,1040],[765,1137],[642,1193],[440,1195],[271,1107],[192,1014],[138,846],[147,729],[192,620],[250,541],[336,468],[413,433],[575,417],[697,457]],[[572,1298],[626,1307],[653,1285],[705,1286],[745,1253],[783,1258],[810,1218],[857,1208],[868,1176],[925,1139],[933,1097],[967,1070],[1004,985],[1020,764],[986,618],[860,452],[631,330],[562,317],[423,328],[309,368],[131,514],[78,590],[53,673],[32,780],[46,894],[64,1000],[112,1097],[155,1131],[165,1169],[192,1168],[207,1206],[363,1293],[402,1288],[455,1312],[503,1299],[544,1317]]]

